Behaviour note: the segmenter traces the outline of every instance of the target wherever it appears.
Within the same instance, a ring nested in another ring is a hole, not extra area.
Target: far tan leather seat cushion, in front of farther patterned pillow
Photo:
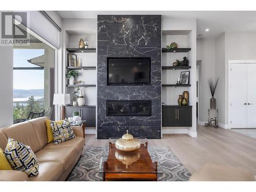
[[[66,170],[74,161],[77,150],[75,147],[52,147],[42,148],[35,155],[39,163],[47,161],[57,161],[63,164],[64,170]]]

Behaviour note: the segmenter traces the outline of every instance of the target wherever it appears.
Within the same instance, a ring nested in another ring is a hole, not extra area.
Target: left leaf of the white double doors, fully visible
[[[230,121],[232,128],[247,127],[247,64],[232,63],[230,71]]]

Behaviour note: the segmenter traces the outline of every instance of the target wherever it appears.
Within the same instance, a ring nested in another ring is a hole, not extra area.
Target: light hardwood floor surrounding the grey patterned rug
[[[149,140],[154,146],[168,146],[190,173],[207,162],[232,165],[256,175],[256,139],[246,135],[198,125],[198,137],[186,134],[164,134]],[[106,140],[86,135],[86,146],[104,146]]]

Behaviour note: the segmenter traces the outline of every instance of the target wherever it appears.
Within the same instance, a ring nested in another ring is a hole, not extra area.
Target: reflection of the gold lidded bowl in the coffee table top
[[[124,165],[126,165],[126,168],[133,164],[134,162],[138,161],[140,158],[140,151],[135,152],[115,152],[115,157],[119,161],[121,161]]]

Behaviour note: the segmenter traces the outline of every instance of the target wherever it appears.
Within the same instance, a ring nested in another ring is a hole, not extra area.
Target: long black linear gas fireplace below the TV
[[[106,116],[151,116],[152,101],[106,101]]]

